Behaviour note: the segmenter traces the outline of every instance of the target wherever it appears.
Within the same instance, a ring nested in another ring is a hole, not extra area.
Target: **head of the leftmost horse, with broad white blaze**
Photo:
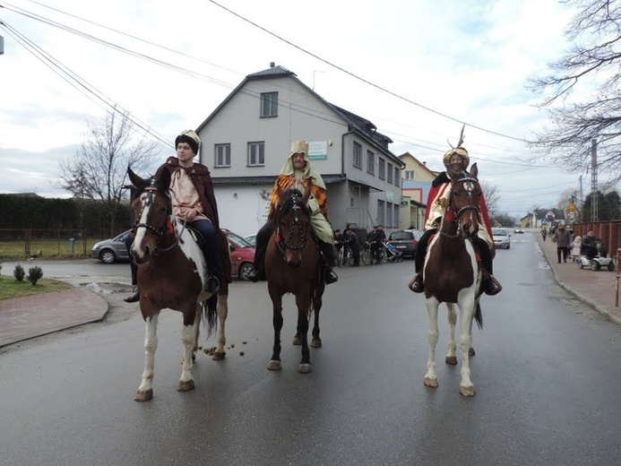
[[[147,263],[155,255],[158,242],[167,229],[172,231],[168,216],[170,173],[165,169],[159,178],[142,179],[131,168],[127,168],[127,175],[135,192],[132,202],[135,222],[131,254],[136,263]]]

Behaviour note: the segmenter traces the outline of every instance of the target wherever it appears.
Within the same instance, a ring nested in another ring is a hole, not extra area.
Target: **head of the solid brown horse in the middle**
[[[302,263],[302,252],[310,237],[310,212],[306,206],[311,188],[304,194],[298,189],[277,191],[279,207],[276,210],[276,241],[289,267],[294,269]]]

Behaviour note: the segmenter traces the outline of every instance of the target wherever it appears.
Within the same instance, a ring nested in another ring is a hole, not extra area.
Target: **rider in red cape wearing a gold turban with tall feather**
[[[414,268],[416,274],[410,280],[409,287],[415,293],[422,293],[425,290],[423,283],[423,266],[425,264],[425,254],[429,238],[433,237],[440,227],[440,222],[444,216],[444,207],[448,203],[451,194],[451,180],[461,172],[466,171],[470,164],[470,156],[465,148],[461,147],[463,142],[463,128],[461,129],[460,141],[457,147],[444,153],[443,161],[446,171],[436,177],[431,184],[427,198],[427,210],[425,211],[425,233],[418,240],[416,255],[414,256]],[[480,228],[483,227],[483,228]],[[481,195],[479,202],[479,233],[474,243],[479,250],[481,264],[483,266],[482,287],[487,295],[496,295],[503,287],[493,275],[493,259],[496,255],[492,231],[489,226],[489,215],[485,196]]]

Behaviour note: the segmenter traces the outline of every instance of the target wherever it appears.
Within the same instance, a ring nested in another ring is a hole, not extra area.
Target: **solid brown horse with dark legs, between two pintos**
[[[282,296],[291,293],[298,306],[298,332],[294,344],[302,345],[302,360],[298,372],[313,371],[306,334],[310,313],[315,311],[315,326],[311,346],[322,346],[319,338],[319,311],[322,307],[323,277],[319,246],[313,237],[310,212],[306,202],[310,186],[304,194],[297,189],[278,191],[279,207],[275,211],[276,229],[265,254],[267,288],[272,298],[274,347],[268,364],[270,370],[280,370],[280,331],[282,330]]]

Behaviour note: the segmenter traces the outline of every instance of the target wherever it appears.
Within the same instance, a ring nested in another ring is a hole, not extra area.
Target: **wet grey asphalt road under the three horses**
[[[0,463],[19,465],[609,465],[621,448],[621,327],[559,288],[532,235],[499,251],[505,289],[484,298],[471,361],[422,384],[427,316],[405,287],[412,263],[342,269],[328,287],[315,371],[296,371],[292,299],[283,370],[264,284],[234,283],[224,361],[199,355],[196,389],[177,393],[180,318],[164,313],[154,399],[132,400],[143,325],[89,325],[0,354]],[[208,343],[209,344],[209,341]],[[243,355],[242,355],[243,351]]]

